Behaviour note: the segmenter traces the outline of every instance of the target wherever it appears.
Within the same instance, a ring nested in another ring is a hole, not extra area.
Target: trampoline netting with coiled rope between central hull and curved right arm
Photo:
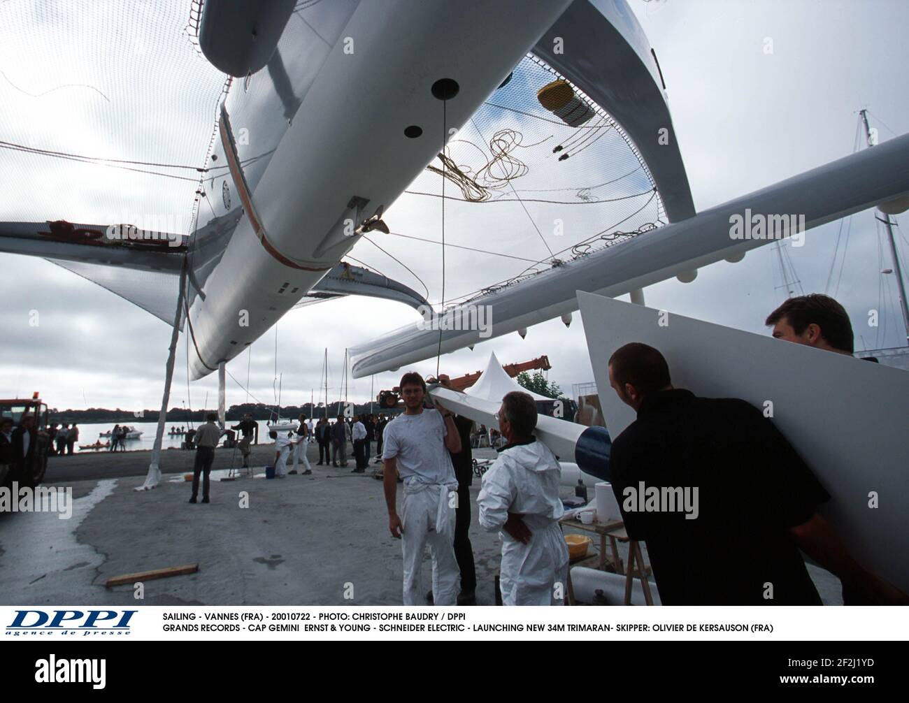
[[[571,103],[550,111],[553,92]],[[451,135],[444,155],[386,210],[391,234],[366,234],[348,257],[434,304],[443,297],[443,236],[447,306],[664,223],[653,178],[621,125],[533,55],[466,124],[444,119],[440,110],[425,129],[440,147]]]

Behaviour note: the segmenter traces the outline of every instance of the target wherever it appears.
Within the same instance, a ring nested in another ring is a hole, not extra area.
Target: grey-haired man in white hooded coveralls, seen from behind
[[[530,395],[506,394],[496,420],[507,444],[484,473],[476,503],[480,524],[500,530],[502,602],[564,605],[568,548],[559,529],[562,468],[553,452],[534,438],[536,403]]]

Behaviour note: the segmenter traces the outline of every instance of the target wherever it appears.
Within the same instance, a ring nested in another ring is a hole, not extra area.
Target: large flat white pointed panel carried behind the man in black
[[[635,417],[609,386],[609,357],[628,342],[662,351],[675,388],[762,411],[772,402],[774,424],[831,494],[822,512],[854,558],[909,592],[909,372],[592,293],[577,298],[610,436]]]

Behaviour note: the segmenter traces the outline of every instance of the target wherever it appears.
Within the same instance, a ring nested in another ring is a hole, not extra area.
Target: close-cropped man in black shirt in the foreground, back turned
[[[829,494],[754,406],[674,389],[663,355],[638,342],[615,351],[609,381],[637,411],[612,444],[613,490],[664,605],[819,605],[799,548],[875,602],[905,602],[817,514]],[[639,495],[654,491],[653,504]]]

